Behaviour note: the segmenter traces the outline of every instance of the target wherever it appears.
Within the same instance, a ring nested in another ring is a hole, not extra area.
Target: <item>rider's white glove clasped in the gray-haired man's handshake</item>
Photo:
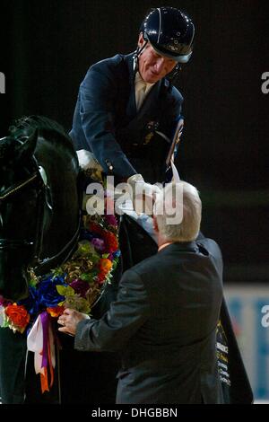
[[[161,189],[143,180],[141,174],[134,174],[127,180],[130,197],[133,201],[134,211],[137,214],[153,214],[153,204]]]

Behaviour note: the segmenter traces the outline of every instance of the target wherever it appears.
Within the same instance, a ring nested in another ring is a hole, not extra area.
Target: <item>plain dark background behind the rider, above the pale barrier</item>
[[[43,114],[66,129],[78,86],[101,58],[135,48],[152,6],[193,17],[195,52],[181,72],[185,135],[182,178],[204,202],[203,231],[220,243],[226,281],[267,281],[269,7],[256,0],[1,2],[0,136],[13,119]]]

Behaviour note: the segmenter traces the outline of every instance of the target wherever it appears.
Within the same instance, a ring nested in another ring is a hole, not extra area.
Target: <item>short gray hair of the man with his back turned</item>
[[[169,183],[157,196],[154,215],[168,242],[191,242],[200,230],[202,203],[197,189],[187,183]]]

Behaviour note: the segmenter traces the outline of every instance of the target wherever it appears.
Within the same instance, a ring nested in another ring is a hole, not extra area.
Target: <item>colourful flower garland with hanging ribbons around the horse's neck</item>
[[[29,295],[12,303],[0,297],[0,327],[28,334],[28,348],[41,355],[36,373],[41,374],[42,391],[49,391],[53,382],[54,340],[50,321],[66,307],[91,314],[103,286],[110,283],[120,255],[115,215],[84,215],[77,251],[72,259],[37,277],[30,270]],[[41,336],[41,349],[36,337]],[[31,346],[30,346],[31,345]],[[30,348],[32,347],[32,348]],[[35,358],[35,365],[36,365]]]

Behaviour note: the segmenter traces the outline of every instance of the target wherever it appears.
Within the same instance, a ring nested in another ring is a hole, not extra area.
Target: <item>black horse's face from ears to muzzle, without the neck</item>
[[[36,133],[0,141],[0,293],[7,298],[25,294],[26,263],[34,255],[32,209],[41,189],[32,159],[36,142]]]

